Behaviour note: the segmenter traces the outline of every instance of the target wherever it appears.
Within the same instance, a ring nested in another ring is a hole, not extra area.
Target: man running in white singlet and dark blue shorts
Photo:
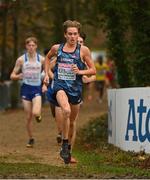
[[[26,53],[20,56],[10,75],[11,80],[22,80],[21,98],[27,119],[29,141],[27,147],[33,147],[35,140],[32,133],[32,118],[41,122],[41,72],[44,57],[36,52],[37,39],[29,37],[25,41]]]

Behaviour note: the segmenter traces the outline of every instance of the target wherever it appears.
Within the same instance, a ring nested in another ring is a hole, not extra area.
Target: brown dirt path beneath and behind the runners
[[[79,129],[92,117],[97,117],[107,111],[107,100],[102,104],[96,100],[97,94],[92,101],[83,103],[77,128]],[[40,162],[51,165],[61,165],[59,159],[60,147],[56,143],[56,124],[46,104],[42,110],[43,121],[33,122],[35,136],[34,148],[26,148],[28,140],[24,112],[22,109],[0,112],[0,156],[5,162]]]

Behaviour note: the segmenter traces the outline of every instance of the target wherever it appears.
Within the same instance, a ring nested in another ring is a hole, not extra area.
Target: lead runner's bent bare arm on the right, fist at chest
[[[91,53],[88,47],[81,46],[81,58],[84,60],[88,68],[80,70],[76,65],[73,65],[73,71],[79,75],[95,75],[96,68],[94,62],[92,61]]]

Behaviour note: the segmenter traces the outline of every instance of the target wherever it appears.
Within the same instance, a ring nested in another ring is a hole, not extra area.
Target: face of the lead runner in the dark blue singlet
[[[74,45],[77,43],[79,37],[79,32],[76,27],[67,28],[67,32],[65,33],[65,38],[67,43],[70,45]]]

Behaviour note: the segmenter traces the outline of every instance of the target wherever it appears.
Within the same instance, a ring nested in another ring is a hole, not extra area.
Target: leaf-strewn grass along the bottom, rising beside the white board
[[[34,163],[8,163],[10,157],[1,156],[0,178],[150,178],[150,155],[125,152],[107,143],[106,115],[78,132],[73,155],[79,163],[61,167],[40,164],[35,157],[22,157]]]

